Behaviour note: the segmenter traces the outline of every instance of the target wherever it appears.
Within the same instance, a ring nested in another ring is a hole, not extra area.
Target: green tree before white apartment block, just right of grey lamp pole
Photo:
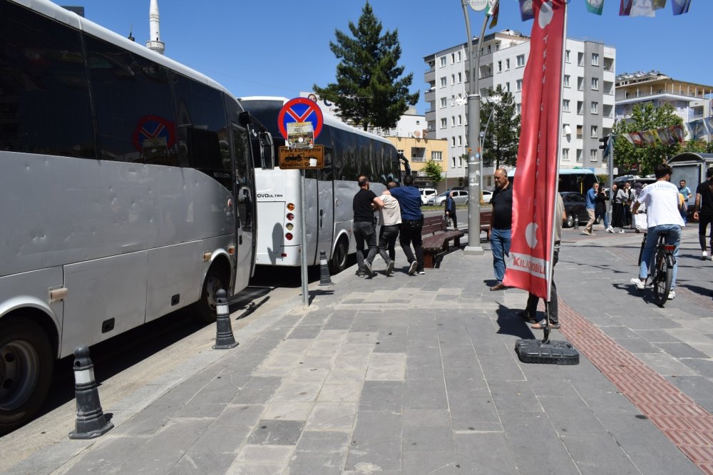
[[[503,86],[499,84],[481,106],[481,130],[486,134],[481,150],[483,165],[495,165],[496,168],[515,166],[520,142],[520,114],[517,113],[513,94],[503,91]]]

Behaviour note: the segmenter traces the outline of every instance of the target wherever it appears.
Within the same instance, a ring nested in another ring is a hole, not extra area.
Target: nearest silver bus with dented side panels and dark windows
[[[260,132],[210,78],[46,0],[0,0],[0,431],[53,361],[255,262]],[[256,153],[257,150],[257,153]]]

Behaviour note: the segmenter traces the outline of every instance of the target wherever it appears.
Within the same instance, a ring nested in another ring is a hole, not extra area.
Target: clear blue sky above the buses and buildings
[[[61,2],[63,3],[63,2]],[[466,41],[461,0],[371,0],[384,31],[398,29],[401,61],[414,73],[411,91],[426,84],[424,56]],[[671,0],[656,18],[620,17],[619,0],[605,0],[604,13],[588,13],[584,0],[569,6],[568,36],[603,41],[617,48],[616,72],[655,69],[682,81],[713,86],[709,41],[712,0],[693,0],[688,14],[673,16]],[[85,15],[136,41],[148,39],[150,0],[75,0]],[[286,96],[311,91],[312,84],[334,82],[337,58],[329,50],[334,30],[349,32],[362,0],[158,0],[166,56],[222,83],[235,96]],[[477,36],[483,12],[468,8],[471,34]],[[501,0],[496,29],[529,35],[532,21],[520,21],[517,0]]]

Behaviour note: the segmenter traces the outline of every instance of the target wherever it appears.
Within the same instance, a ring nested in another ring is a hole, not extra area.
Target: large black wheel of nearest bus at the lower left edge
[[[42,327],[26,318],[0,320],[0,435],[28,422],[40,408],[53,364]]]

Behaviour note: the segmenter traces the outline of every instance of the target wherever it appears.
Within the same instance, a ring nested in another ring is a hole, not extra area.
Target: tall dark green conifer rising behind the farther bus
[[[349,21],[349,30],[353,37],[337,29],[337,43],[329,41],[332,53],[341,60],[337,82],[324,88],[315,84],[314,92],[336,104],[342,120],[364,131],[370,126],[394,128],[409,106],[419,101],[419,91],[409,93],[414,74],[401,77],[399,31],[387,30],[382,36],[381,21],[369,1],[361,9],[359,24]]]

